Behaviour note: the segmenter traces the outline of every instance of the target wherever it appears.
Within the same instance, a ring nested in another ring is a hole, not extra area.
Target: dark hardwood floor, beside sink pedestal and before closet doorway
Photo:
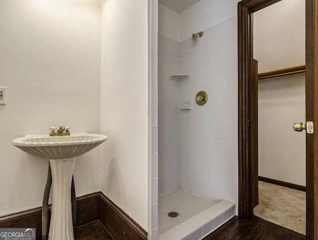
[[[203,240],[303,240],[305,236],[260,218],[234,217]],[[76,231],[75,240],[112,240],[100,224],[94,223]]]

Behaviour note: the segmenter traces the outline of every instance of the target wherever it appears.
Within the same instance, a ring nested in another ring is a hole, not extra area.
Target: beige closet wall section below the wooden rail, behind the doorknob
[[[258,175],[306,186],[305,74],[260,80],[258,84]]]

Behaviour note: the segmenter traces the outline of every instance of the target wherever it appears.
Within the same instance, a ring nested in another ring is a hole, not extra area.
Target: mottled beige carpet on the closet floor
[[[258,182],[254,215],[306,235],[306,193],[266,182]]]

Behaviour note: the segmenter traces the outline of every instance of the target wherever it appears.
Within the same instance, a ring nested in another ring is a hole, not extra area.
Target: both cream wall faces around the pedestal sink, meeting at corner
[[[48,161],[12,139],[62,123],[109,137],[78,158],[77,196],[102,190],[147,230],[147,6],[0,1],[0,215],[41,206],[47,177]]]

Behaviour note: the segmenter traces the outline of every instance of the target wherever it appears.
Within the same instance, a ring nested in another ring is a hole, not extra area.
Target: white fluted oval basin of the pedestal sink
[[[107,140],[100,134],[79,133],[70,136],[28,135],[16,138],[12,144],[22,151],[47,159],[77,157]]]

